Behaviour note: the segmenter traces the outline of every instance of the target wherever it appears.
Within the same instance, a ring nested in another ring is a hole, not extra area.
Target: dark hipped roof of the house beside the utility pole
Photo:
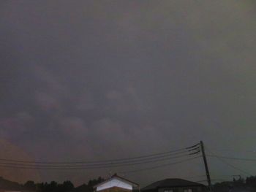
[[[157,188],[170,188],[170,187],[192,187],[192,186],[204,186],[200,183],[195,183],[189,180],[182,180],[182,179],[165,179],[165,180],[159,180],[155,183],[152,183],[151,185],[146,186],[142,189],[142,191],[147,190],[154,190]]]

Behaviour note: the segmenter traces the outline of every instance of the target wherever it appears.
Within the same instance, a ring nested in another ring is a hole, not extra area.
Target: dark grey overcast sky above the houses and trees
[[[1,158],[124,158],[200,139],[213,149],[256,150],[255,11],[246,0],[2,0]],[[209,161],[216,177],[241,174]],[[231,162],[256,174],[252,163]],[[110,171],[119,169],[1,168],[19,182],[76,185]],[[203,171],[193,161],[124,177],[145,185]]]

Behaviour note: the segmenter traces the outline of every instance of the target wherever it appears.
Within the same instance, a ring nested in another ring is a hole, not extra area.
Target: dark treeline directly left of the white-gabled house
[[[93,192],[94,185],[104,181],[102,177],[98,177],[94,180],[89,180],[88,183],[78,186],[75,188],[73,183],[69,180],[64,181],[64,183],[56,183],[52,181],[50,183],[34,183],[34,181],[27,181],[23,187],[27,191],[37,191],[37,192]]]

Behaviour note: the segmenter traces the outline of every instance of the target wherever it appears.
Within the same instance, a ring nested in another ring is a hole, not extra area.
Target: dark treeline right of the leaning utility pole
[[[256,176],[240,177],[233,179],[233,181],[225,181],[222,183],[215,183],[213,185],[214,192],[229,192],[229,191],[249,191],[256,192]]]

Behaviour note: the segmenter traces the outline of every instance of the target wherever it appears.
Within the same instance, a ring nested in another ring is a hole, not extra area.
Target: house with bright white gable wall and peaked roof
[[[95,185],[94,188],[97,192],[130,192],[139,188],[139,185],[114,174],[109,180]]]

